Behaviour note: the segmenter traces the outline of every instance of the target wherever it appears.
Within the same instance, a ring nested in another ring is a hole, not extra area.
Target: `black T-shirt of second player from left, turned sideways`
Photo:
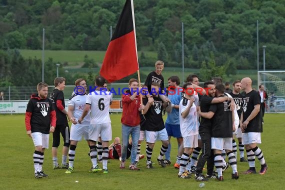
[[[56,106],[56,101],[61,100],[62,106],[65,108],[63,91],[57,88],[54,88],[52,93],[49,96],[49,99],[51,100],[53,108],[56,112],[56,125],[67,125],[66,115],[62,111],[60,111]]]

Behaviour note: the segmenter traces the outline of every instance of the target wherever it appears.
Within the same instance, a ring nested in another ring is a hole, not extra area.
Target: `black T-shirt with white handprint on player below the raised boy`
[[[164,122],[162,118],[162,100],[159,97],[153,97],[154,101],[144,114],[145,117],[145,130],[148,131],[159,131],[164,128]],[[143,98],[142,102],[146,105],[148,99]]]

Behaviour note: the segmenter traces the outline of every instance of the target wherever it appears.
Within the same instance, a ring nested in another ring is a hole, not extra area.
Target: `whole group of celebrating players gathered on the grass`
[[[239,161],[248,161],[249,169],[244,173],[256,173],[256,156],[261,164],[259,173],[264,174],[267,164],[257,146],[261,143],[262,132],[260,96],[252,90],[251,79],[245,77],[240,81],[235,80],[232,84],[233,91],[226,93],[220,77],[204,82],[201,88],[198,86],[198,76],[189,75],[181,88],[179,77],[170,76],[168,90],[164,91],[164,78],[161,74],[163,66],[164,63],[160,60],[155,62],[155,71],[148,74],[142,88],[137,79],[129,80],[129,90],[121,97],[122,143],[119,137],[115,137],[110,145],[112,132],[109,106],[112,103],[112,93],[107,89],[102,76],[96,76],[96,88],[90,93],[86,93],[85,80],[78,78],[75,86],[82,88],[78,88],[69,98],[68,110],[65,110],[62,92],[65,78],[54,79],[55,89],[49,98],[47,84],[39,82],[38,94],[31,95],[25,114],[27,135],[32,138],[35,146],[35,178],[48,176],[42,171],[42,164],[44,149],[48,148],[49,132],[53,136],[53,169],[66,168],[65,173],[73,171],[76,145],[82,136],[90,149],[88,154],[92,167],[89,172],[103,173],[108,173],[108,159],[119,159],[119,168],[124,169],[128,157],[128,169],[139,170],[138,161],[144,157],[140,154],[140,144],[144,139],[146,168],[153,168],[151,157],[157,140],[162,142],[157,162],[161,167],[166,167],[171,164],[170,138],[173,136],[178,143],[174,167],[178,169],[179,178],[191,178],[194,174],[195,180],[222,181],[222,172],[231,166],[231,177],[238,179],[237,144],[234,137],[238,139]],[[241,95],[240,90],[245,92],[244,95]],[[165,123],[163,110],[167,111]],[[67,118],[72,122],[70,131]],[[59,165],[57,147],[60,133],[64,142]],[[244,147],[247,160],[243,156]],[[228,163],[225,161],[226,155]],[[102,163],[102,168],[98,163]],[[203,175],[205,163],[207,172]]]

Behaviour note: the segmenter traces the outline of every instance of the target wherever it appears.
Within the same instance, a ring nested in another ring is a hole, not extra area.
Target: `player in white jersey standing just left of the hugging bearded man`
[[[197,97],[194,95],[192,83],[186,82],[183,88],[185,93],[179,103],[179,120],[184,152],[180,160],[178,177],[190,178],[190,173],[185,170],[185,166],[189,161],[192,149],[198,146],[197,107],[194,103]]]

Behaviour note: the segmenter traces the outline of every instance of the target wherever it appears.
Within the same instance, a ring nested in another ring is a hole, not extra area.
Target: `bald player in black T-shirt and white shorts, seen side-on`
[[[242,134],[242,143],[246,149],[247,160],[249,169],[245,171],[245,174],[256,173],[255,170],[255,156],[258,158],[261,169],[260,174],[264,174],[267,170],[267,164],[263,157],[261,149],[257,146],[257,143],[261,143],[260,132],[262,132],[262,122],[260,110],[260,97],[258,92],[252,90],[251,79],[245,77],[241,79],[241,89],[245,92],[241,102],[241,116],[239,125]]]

